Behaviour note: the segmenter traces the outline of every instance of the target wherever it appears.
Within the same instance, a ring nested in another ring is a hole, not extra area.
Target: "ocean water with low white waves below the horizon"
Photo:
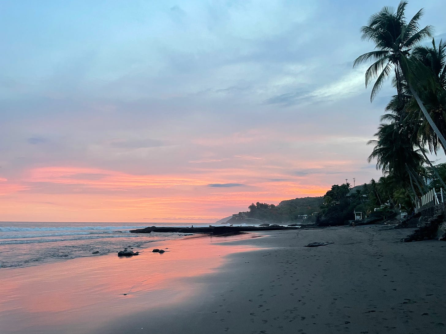
[[[182,238],[179,233],[130,233],[147,226],[207,227],[212,223],[0,222],[0,267],[23,267],[77,257],[135,250],[153,241]],[[97,254],[92,252],[99,251]]]

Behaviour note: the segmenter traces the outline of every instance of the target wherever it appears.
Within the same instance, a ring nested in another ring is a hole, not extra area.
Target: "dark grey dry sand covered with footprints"
[[[384,226],[267,232],[195,296],[97,333],[446,333],[446,243]],[[332,241],[318,248],[313,241]],[[197,281],[197,277],[193,280]],[[194,286],[193,282],[184,284]]]

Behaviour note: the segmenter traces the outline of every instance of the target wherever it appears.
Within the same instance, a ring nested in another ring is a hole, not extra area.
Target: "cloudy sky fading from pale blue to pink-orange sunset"
[[[371,103],[352,63],[397,4],[1,1],[0,220],[213,222],[378,179],[394,92]]]

